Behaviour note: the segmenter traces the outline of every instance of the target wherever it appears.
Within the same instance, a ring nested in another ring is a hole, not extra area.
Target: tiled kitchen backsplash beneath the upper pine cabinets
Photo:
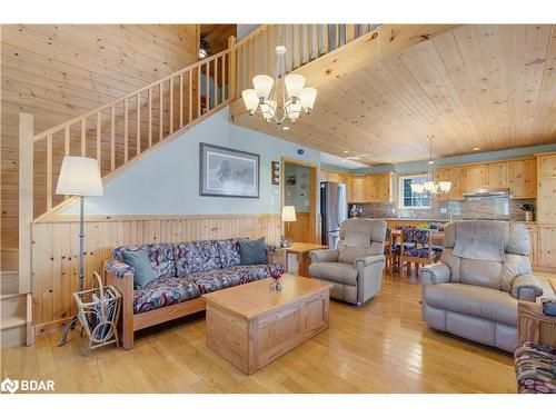
[[[397,203],[394,202],[371,202],[357,206],[363,208],[363,217],[448,220],[451,215],[454,219],[488,218],[519,221],[525,220],[525,214],[519,207],[526,202],[535,206],[536,200],[510,200],[506,197],[475,197],[463,201],[435,201],[430,209],[425,210],[399,209]]]

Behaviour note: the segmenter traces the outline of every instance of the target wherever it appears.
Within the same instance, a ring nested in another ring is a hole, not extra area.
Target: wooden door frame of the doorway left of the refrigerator
[[[280,160],[280,216],[281,209],[286,201],[285,191],[286,191],[286,163],[298,165],[301,167],[307,167],[310,169],[311,181],[310,181],[310,208],[309,208],[309,235],[311,238],[310,241],[306,244],[320,244],[320,215],[317,212],[318,209],[318,192],[320,190],[320,178],[318,172],[318,165],[306,161],[304,159],[296,159],[289,157],[281,157]],[[281,221],[281,219],[280,219]],[[281,221],[281,234],[285,232],[285,225]]]

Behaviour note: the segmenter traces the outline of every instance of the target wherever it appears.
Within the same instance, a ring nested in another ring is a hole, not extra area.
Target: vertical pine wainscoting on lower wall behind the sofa
[[[117,246],[230,237],[278,242],[280,220],[279,214],[88,218],[85,287],[90,288],[92,271],[102,270]],[[41,334],[76,314],[72,292],[79,289],[79,222],[71,218],[34,224],[32,235],[33,325]]]

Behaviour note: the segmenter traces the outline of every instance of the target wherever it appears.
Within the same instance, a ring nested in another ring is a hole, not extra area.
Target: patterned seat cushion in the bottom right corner
[[[556,394],[556,348],[522,341],[514,358],[519,394]]]

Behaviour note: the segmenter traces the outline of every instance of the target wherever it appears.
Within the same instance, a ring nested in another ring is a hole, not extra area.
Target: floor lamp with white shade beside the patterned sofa
[[[83,290],[85,266],[85,197],[102,196],[99,162],[92,158],[63,157],[56,187],[59,196],[79,196],[79,291]],[[77,316],[63,329],[59,346],[66,345],[68,332],[76,327]]]

